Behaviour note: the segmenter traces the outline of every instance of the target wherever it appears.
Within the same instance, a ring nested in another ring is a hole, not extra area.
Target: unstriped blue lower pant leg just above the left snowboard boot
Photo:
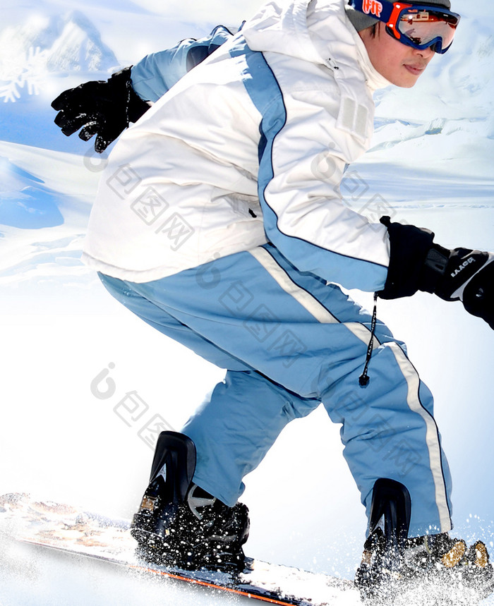
[[[320,406],[290,394],[258,372],[229,370],[183,433],[198,452],[194,481],[232,507],[283,428]]]

